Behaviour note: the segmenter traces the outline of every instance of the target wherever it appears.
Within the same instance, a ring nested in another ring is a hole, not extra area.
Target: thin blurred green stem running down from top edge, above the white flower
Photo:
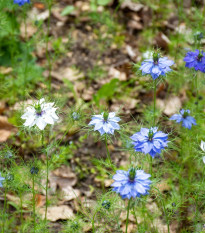
[[[49,34],[50,34],[50,22],[51,22],[51,7],[52,7],[52,2],[51,0],[48,1],[48,11],[49,11],[49,16],[48,16],[48,24],[47,24],[47,35],[46,35],[46,58],[48,61],[48,89],[49,92],[51,91],[51,57],[48,52],[48,42],[49,42]]]

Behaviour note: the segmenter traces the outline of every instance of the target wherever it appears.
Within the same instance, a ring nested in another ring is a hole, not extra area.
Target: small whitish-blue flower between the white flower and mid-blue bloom
[[[120,118],[115,116],[115,112],[103,112],[100,115],[93,115],[89,125],[94,125],[94,131],[97,130],[101,135],[114,134],[115,130],[120,129],[119,121]]]

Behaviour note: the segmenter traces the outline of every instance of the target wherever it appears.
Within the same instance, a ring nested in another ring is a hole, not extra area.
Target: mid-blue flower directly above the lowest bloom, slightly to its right
[[[168,134],[157,129],[157,127],[141,128],[140,132],[133,134],[130,138],[133,140],[135,151],[150,154],[153,158],[160,154],[161,150],[167,147]]]

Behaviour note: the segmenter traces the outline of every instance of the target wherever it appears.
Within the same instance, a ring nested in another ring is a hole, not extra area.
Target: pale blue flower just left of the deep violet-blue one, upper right
[[[170,66],[172,66],[174,62],[169,60],[167,57],[159,57],[158,53],[153,53],[153,57],[150,59],[144,60],[140,67],[142,74],[150,74],[152,78],[155,80],[160,75],[165,76],[166,73],[172,71]]]

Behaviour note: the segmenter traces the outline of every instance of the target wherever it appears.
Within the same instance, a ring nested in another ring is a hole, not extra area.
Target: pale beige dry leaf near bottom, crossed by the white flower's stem
[[[45,208],[38,210],[42,218],[45,216]],[[48,207],[47,219],[51,222],[55,222],[59,219],[66,220],[74,217],[73,210],[67,205],[51,206]]]

